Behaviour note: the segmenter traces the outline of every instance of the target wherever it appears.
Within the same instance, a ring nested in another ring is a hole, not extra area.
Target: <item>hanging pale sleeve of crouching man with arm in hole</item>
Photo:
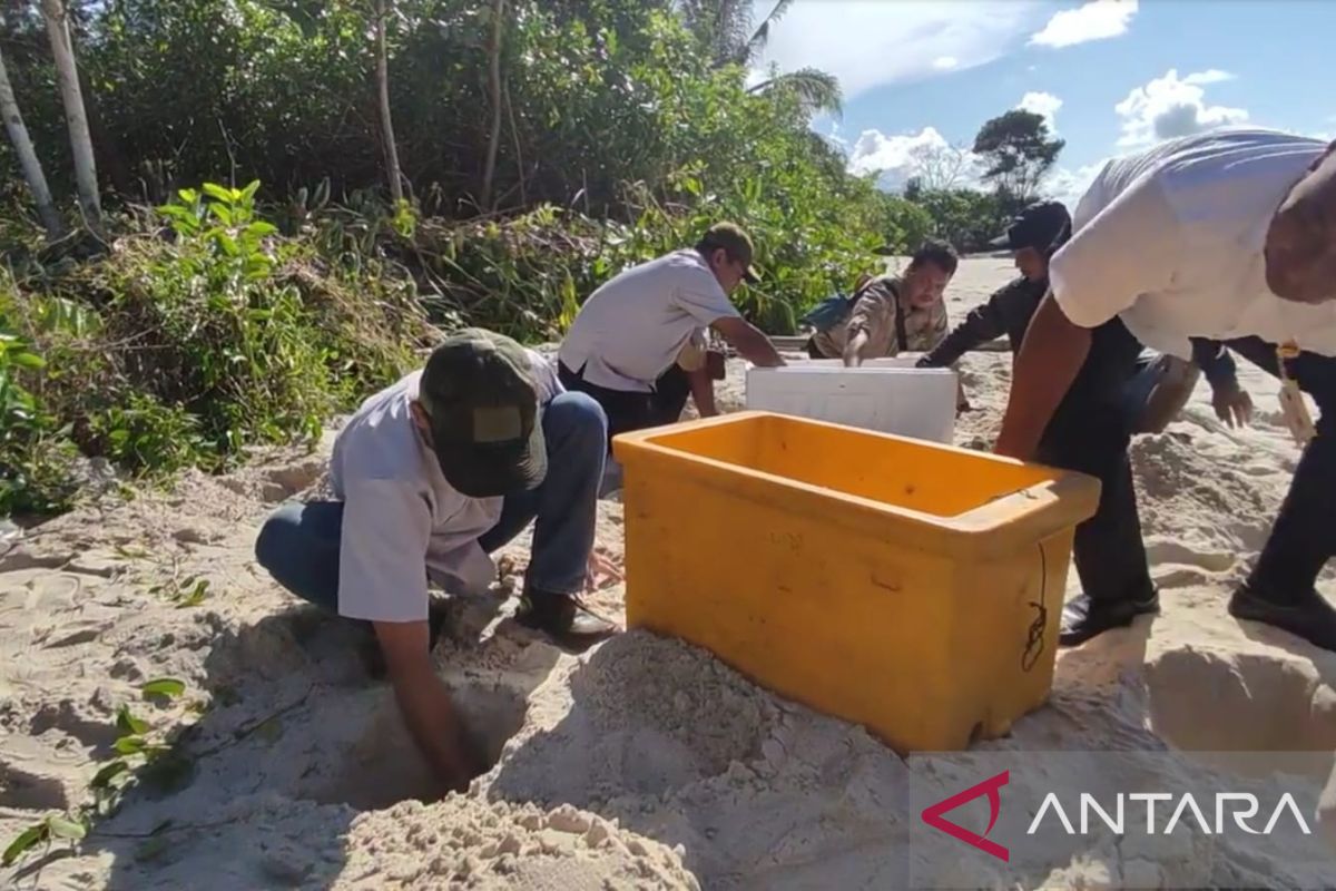
[[[349,618],[425,621],[432,512],[422,494],[394,480],[345,486],[338,556],[338,610]]]

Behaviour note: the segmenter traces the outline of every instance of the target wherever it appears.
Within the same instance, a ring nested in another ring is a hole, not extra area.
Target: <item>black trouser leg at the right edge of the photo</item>
[[[1225,345],[1280,377],[1276,345],[1248,337]],[[1321,411],[1317,435],[1295,468],[1271,537],[1248,580],[1259,596],[1295,600],[1311,592],[1323,565],[1336,554],[1336,358],[1300,353],[1285,362],[1289,377]]]

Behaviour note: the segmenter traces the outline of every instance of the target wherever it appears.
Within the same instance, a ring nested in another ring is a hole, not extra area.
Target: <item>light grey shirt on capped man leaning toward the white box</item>
[[[589,383],[649,393],[695,334],[737,315],[695,250],[633,266],[580,307],[561,343],[561,362]]]

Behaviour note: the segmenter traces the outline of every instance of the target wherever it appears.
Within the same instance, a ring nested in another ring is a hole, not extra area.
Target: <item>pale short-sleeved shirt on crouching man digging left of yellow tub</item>
[[[561,393],[552,365],[529,350],[540,405]],[[413,422],[422,371],[367,398],[334,441],[330,482],[343,501],[338,610],[370,621],[428,617],[428,577],[481,592],[496,565],[478,537],[501,518],[501,498],[460,494]]]

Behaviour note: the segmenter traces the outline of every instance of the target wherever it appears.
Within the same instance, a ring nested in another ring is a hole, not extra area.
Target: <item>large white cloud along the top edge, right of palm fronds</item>
[[[772,5],[754,0],[755,20]],[[796,0],[771,28],[758,65],[828,71],[851,99],[880,84],[993,61],[1043,15],[1039,0]]]

